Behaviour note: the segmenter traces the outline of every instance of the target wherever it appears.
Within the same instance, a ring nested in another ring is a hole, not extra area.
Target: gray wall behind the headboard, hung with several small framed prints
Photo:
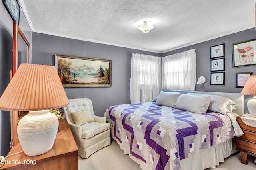
[[[242,91],[242,88],[236,88],[236,72],[253,72],[253,74],[256,75],[256,66],[233,68],[232,44],[255,38],[256,32],[255,29],[252,28],[231,35],[226,35],[224,37],[212,39],[210,41],[205,41],[203,43],[184,47],[182,49],[170,51],[162,54],[162,57],[175,53],[180,53],[189,49],[196,49],[196,78],[199,78],[200,76],[206,77],[206,82],[203,84],[203,90],[209,92],[240,93]],[[225,43],[225,85],[210,85],[210,47],[223,43]],[[200,84],[196,84],[196,91],[201,91]],[[252,98],[252,96],[244,96],[244,98],[245,113],[248,113],[246,104],[247,101]]]

